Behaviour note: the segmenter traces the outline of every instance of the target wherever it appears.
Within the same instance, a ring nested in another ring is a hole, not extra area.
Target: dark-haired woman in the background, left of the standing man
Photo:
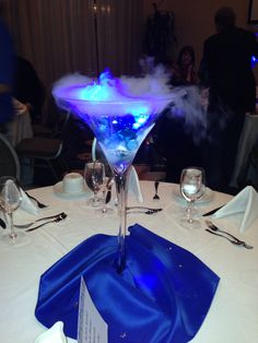
[[[191,46],[185,46],[180,49],[177,62],[172,67],[171,82],[174,86],[197,84],[195,60],[195,50]]]

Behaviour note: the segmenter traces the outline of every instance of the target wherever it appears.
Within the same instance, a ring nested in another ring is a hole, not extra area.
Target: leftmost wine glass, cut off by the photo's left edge
[[[22,202],[22,194],[17,181],[10,176],[0,178],[0,209],[5,213],[10,233],[2,236],[2,241],[9,245],[17,244],[22,240],[24,233],[16,233],[13,226],[13,212]]]

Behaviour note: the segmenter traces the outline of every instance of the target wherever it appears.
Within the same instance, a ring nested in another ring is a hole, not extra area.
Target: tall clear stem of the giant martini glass
[[[118,232],[118,256],[117,272],[121,273],[126,264],[126,233],[127,233],[127,176],[128,169],[124,174],[115,173],[115,182],[118,200],[119,232]]]

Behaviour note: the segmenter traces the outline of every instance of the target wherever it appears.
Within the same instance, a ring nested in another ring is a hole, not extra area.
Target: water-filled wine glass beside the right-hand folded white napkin
[[[204,191],[204,170],[199,167],[189,167],[181,170],[180,192],[187,201],[186,218],[181,223],[187,227],[197,227],[200,223],[194,218],[195,201],[203,194]]]

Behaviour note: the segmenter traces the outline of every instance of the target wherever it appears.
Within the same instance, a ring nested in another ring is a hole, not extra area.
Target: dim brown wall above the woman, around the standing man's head
[[[153,13],[153,0],[143,0],[144,17]],[[174,11],[177,51],[185,45],[191,45],[196,51],[196,69],[202,56],[203,42],[215,33],[213,16],[222,5],[232,7],[236,12],[236,25],[258,32],[258,27],[247,24],[249,0],[164,0],[155,1],[160,10]],[[258,80],[258,67],[255,68]]]

